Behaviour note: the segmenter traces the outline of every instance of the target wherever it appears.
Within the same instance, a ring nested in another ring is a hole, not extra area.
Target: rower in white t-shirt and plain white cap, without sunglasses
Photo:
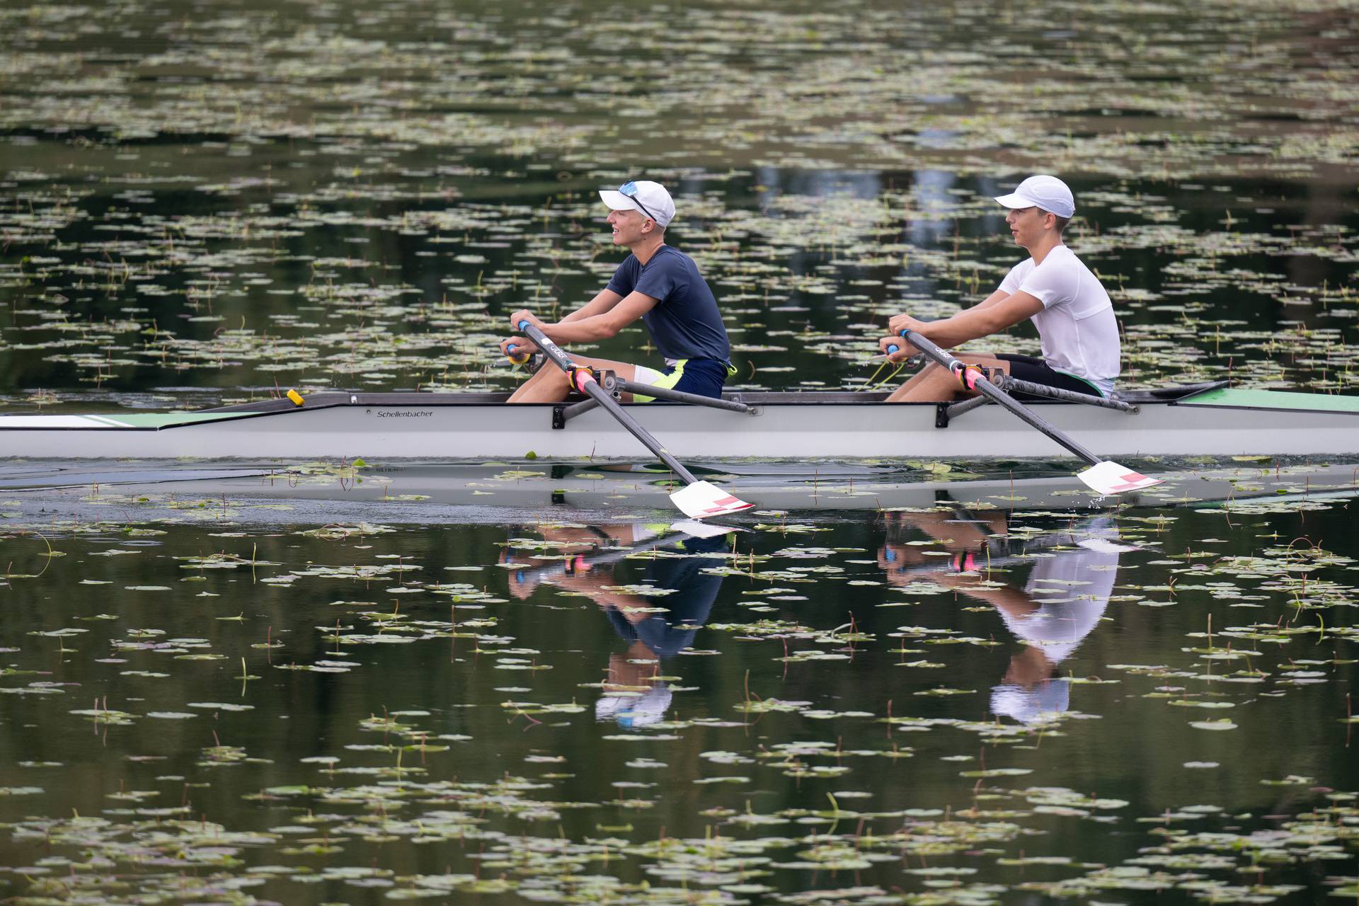
[[[892,336],[878,345],[885,353],[887,346],[898,346],[889,357],[900,361],[915,352],[901,342],[904,329],[950,349],[1031,318],[1042,342],[1041,359],[1017,355],[958,359],[1019,380],[1108,397],[1120,371],[1118,322],[1099,280],[1061,243],[1061,231],[1076,212],[1071,189],[1056,177],[1029,177],[996,201],[1010,209],[1006,223],[1015,244],[1029,251],[1029,259],[1015,265],[981,304],[951,318],[916,321],[906,314],[896,315],[889,322]],[[887,397],[887,402],[947,402],[973,395],[976,391],[961,387],[949,371],[930,364]]]

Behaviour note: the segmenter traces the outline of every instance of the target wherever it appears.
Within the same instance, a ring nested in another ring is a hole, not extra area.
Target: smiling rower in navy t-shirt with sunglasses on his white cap
[[[665,357],[665,371],[576,355],[572,360],[609,368],[624,380],[720,397],[733,371],[731,344],[718,300],[693,258],[665,244],[666,225],[675,216],[670,193],[658,182],[637,181],[625,182],[617,192],[601,192],[599,198],[610,208],[607,223],[613,227],[613,243],[632,254],[618,265],[599,295],[561,321],[544,323],[529,311],[516,311],[510,315],[510,323],[518,329],[520,321],[527,321],[550,340],[572,344],[613,337],[640,318]],[[515,356],[537,349],[526,337],[507,337],[500,342],[501,352],[508,356],[511,345]],[[540,368],[510,402],[559,402],[569,390],[565,372]],[[651,397],[635,399],[647,402]]]

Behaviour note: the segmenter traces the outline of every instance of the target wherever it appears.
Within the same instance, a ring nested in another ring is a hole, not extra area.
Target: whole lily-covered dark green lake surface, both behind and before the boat
[[[1075,189],[1068,243],[1114,299],[1125,386],[1354,393],[1354,23],[1343,3],[11,4],[0,402],[510,388],[506,316],[603,285],[594,192],[633,177],[675,194],[733,386],[860,387],[892,314],[947,315],[1018,259],[991,196],[1036,171]],[[656,513],[360,532],[383,508],[43,507],[0,493],[15,902],[1359,883],[1343,497],[760,515],[613,562]]]

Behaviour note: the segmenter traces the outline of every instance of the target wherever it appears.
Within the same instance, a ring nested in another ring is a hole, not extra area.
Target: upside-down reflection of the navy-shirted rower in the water
[[[684,531],[703,532],[700,538]],[[601,720],[614,719],[624,727],[643,727],[665,717],[670,708],[669,686],[658,682],[660,659],[678,655],[693,644],[694,633],[707,622],[712,603],[722,588],[722,576],[704,573],[704,569],[720,565],[715,557],[704,557],[722,551],[727,546],[726,530],[713,532],[701,523],[677,523],[665,537],[656,534],[665,526],[601,526],[591,527],[595,543],[601,538],[607,542],[636,545],[637,550],[656,549],[684,553],[684,557],[655,557],[647,561],[641,584],[666,594],[637,594],[609,588],[620,585],[613,568],[633,550],[607,550],[597,556],[579,554],[564,565],[516,570],[511,576],[511,591],[518,598],[527,598],[540,581],[548,581],[561,588],[569,588],[590,595],[599,604],[614,630],[629,642],[626,652],[609,656],[609,672],[605,679],[605,695],[595,702],[595,716]],[[571,530],[563,534],[557,528],[544,532],[549,542],[563,545],[587,543],[588,535]],[[665,609],[658,611],[658,609]]]

